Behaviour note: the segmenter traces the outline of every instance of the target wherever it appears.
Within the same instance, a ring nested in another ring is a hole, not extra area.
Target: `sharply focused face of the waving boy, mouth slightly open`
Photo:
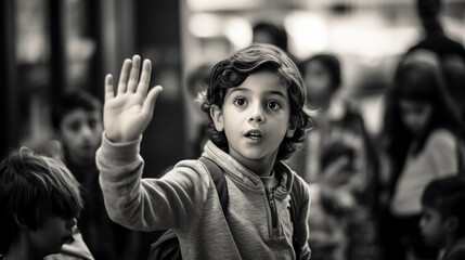
[[[224,130],[230,155],[246,167],[274,162],[284,136],[294,134],[289,117],[287,89],[270,72],[251,74],[241,86],[228,89],[221,109],[212,112],[217,130]]]

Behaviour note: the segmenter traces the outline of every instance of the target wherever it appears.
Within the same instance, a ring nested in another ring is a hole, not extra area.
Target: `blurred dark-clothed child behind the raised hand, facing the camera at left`
[[[78,229],[95,259],[134,259],[129,247],[135,234],[113,223],[105,211],[99,186],[95,152],[101,143],[102,104],[83,90],[73,90],[52,107],[52,125],[57,140],[49,145],[49,154],[62,158],[81,184],[85,208]],[[121,257],[122,256],[122,257]]]

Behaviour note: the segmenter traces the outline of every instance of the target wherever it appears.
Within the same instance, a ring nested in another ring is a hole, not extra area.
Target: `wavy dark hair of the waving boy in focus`
[[[229,88],[242,84],[250,75],[268,70],[276,73],[287,87],[290,103],[290,125],[295,128],[294,136],[285,136],[280,145],[276,159],[287,159],[302,142],[307,130],[313,127],[312,114],[306,107],[307,91],[300,73],[294,62],[281,49],[267,43],[253,43],[230,57],[219,62],[211,69],[207,92],[202,109],[210,118],[210,140],[224,152],[229,152],[224,131],[218,132],[210,116],[212,106],[222,107]]]

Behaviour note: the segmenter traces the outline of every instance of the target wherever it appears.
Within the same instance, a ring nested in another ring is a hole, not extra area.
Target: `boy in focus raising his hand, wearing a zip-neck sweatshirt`
[[[225,216],[198,160],[181,161],[162,179],[141,179],[139,145],[162,87],[146,94],[150,61],[138,86],[139,70],[138,55],[125,61],[116,96],[112,76],[105,79],[96,161],[109,217],[135,230],[173,229],[183,259],[309,259],[308,186],[281,162],[310,128],[305,86],[290,58],[270,44],[253,44],[212,68],[203,104],[212,134],[203,157],[224,171]],[[294,221],[293,185],[300,202]]]

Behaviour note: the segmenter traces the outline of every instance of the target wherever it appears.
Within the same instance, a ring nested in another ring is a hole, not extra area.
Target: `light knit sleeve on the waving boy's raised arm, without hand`
[[[103,135],[96,165],[109,218],[141,231],[194,224],[206,200],[208,172],[201,162],[191,160],[179,162],[160,179],[142,179],[141,140],[117,144]]]

